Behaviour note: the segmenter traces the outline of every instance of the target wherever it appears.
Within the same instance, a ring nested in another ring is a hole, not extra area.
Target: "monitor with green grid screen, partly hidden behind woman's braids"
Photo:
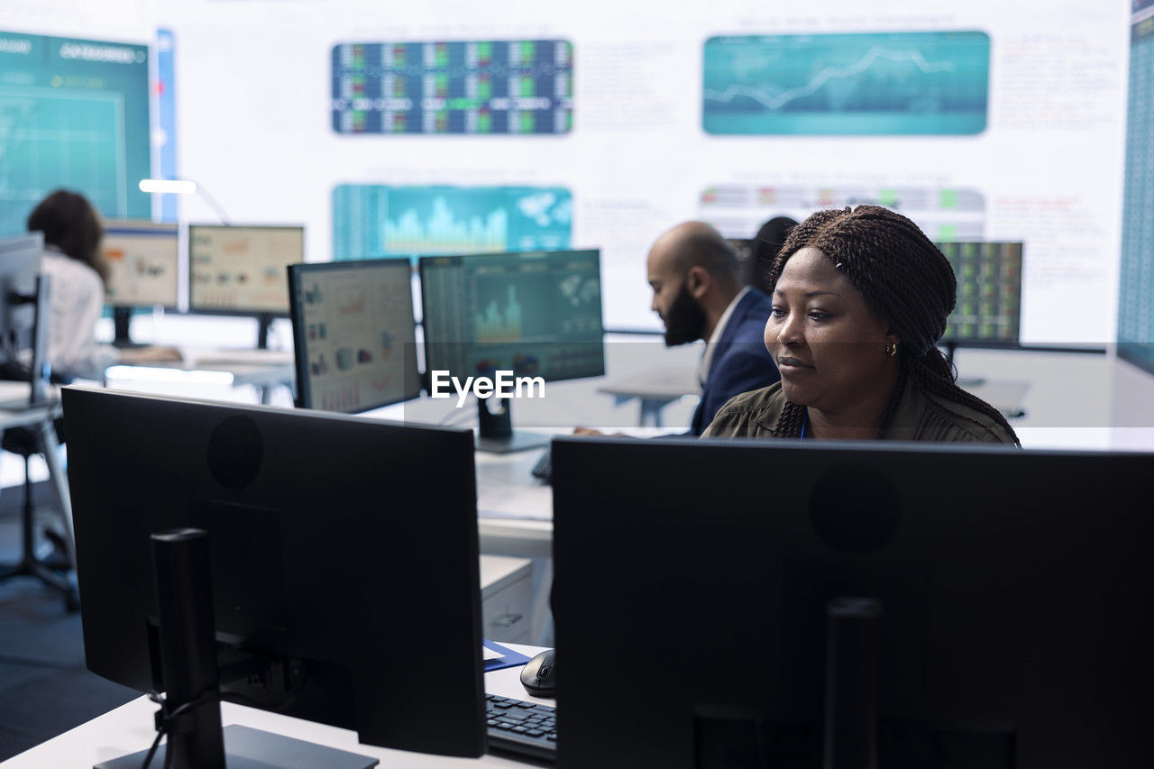
[[[943,342],[967,346],[1016,346],[1021,328],[1020,242],[939,242],[953,266],[958,304]]]

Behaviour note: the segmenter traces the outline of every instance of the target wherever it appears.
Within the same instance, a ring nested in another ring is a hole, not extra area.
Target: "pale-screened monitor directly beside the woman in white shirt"
[[[177,307],[180,248],[175,224],[106,219],[100,249],[108,267],[106,304]]]

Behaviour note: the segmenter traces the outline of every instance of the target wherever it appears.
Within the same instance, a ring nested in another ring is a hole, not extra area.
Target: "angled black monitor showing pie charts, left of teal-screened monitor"
[[[407,259],[288,267],[297,405],[353,413],[415,398]]]

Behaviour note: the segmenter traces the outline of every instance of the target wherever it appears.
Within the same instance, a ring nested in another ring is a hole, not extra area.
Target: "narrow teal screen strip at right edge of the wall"
[[[1130,29],[1126,180],[1118,354],[1154,373],[1154,2],[1134,2]]]

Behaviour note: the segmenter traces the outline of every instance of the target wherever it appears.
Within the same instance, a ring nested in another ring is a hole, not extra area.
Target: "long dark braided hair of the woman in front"
[[[957,301],[958,282],[950,261],[916,224],[881,206],[817,211],[794,227],[781,246],[769,271],[769,293],[773,293],[789,257],[807,247],[837,264],[869,308],[901,339],[900,375],[883,412],[878,438],[897,411],[905,382],[913,378],[922,391],[987,415],[1018,443],[1001,411],[958,387],[957,372],[937,348]],[[773,436],[800,438],[804,416],[805,406],[787,401]]]

